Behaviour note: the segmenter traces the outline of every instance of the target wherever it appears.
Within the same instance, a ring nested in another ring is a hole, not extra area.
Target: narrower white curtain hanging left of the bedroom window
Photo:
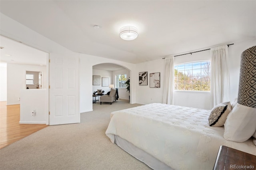
[[[164,104],[174,104],[174,56],[165,58]]]

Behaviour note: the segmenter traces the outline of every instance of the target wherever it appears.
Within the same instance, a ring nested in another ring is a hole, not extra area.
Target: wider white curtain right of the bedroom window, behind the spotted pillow
[[[230,80],[228,69],[228,46],[211,48],[211,108],[222,102],[228,102]],[[239,76],[239,75],[238,75]]]

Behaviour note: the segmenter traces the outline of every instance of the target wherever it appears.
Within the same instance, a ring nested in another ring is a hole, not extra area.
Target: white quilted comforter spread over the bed
[[[223,138],[223,127],[210,127],[210,110],[160,103],[111,113],[106,135],[118,135],[174,169],[213,169],[218,149],[229,146],[256,155],[252,140]]]

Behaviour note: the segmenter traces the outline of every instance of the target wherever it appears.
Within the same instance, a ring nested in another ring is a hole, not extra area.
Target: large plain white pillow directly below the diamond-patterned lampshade
[[[224,138],[234,142],[248,140],[256,131],[256,108],[236,104],[224,124]]]

